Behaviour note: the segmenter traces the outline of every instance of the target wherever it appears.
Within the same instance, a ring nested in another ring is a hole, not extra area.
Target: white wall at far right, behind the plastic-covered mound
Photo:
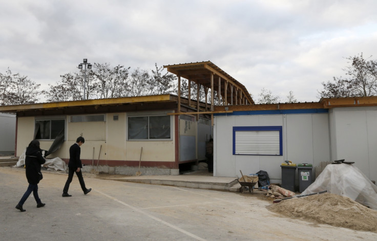
[[[377,107],[333,108],[332,160],[355,162],[370,180],[377,180]]]

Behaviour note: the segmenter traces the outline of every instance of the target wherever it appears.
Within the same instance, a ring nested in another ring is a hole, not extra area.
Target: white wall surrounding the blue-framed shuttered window
[[[278,114],[214,117],[214,176],[240,177],[267,171],[281,183],[284,160],[314,166],[330,160],[328,114]],[[233,126],[282,126],[283,156],[233,155]],[[314,170],[312,171],[314,174]]]

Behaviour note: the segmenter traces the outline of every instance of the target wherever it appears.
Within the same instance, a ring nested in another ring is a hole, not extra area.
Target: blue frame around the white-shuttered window
[[[279,132],[279,154],[236,154],[236,132]],[[282,126],[233,126],[233,155],[248,156],[283,156],[283,127]]]

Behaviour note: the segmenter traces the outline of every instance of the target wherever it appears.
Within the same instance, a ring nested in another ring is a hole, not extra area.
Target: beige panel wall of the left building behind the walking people
[[[117,121],[113,120],[114,114],[118,115]],[[127,141],[125,113],[106,114],[105,122],[69,122],[69,117],[66,118],[66,141],[48,158],[68,159],[69,147],[82,135],[85,143],[81,146],[81,159],[94,159],[94,164],[98,160],[100,149],[101,160],[139,161],[141,147],[143,147],[141,159],[144,161],[175,161],[174,134],[171,141]],[[34,117],[18,118],[16,154],[18,157],[33,139],[34,123]],[[172,123],[174,128],[174,121]],[[51,144],[52,141],[40,141],[41,149],[48,150]]]

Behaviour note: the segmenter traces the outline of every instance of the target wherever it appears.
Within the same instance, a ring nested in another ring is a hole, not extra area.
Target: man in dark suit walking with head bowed
[[[80,186],[81,186],[81,189],[84,192],[84,194],[86,195],[92,190],[92,188],[89,188],[89,189],[86,188],[84,179],[82,178],[82,172],[81,172],[82,164],[81,164],[81,160],[80,160],[80,152],[81,152],[80,146],[84,142],[85,142],[85,139],[83,137],[78,137],[77,140],[76,140],[76,143],[73,144],[69,148],[68,179],[67,179],[66,185],[64,186],[62,196],[72,196],[72,195],[68,194],[68,189],[69,189],[69,185],[72,182],[73,174],[75,172],[76,172],[76,176],[78,178],[78,181],[80,182]]]

